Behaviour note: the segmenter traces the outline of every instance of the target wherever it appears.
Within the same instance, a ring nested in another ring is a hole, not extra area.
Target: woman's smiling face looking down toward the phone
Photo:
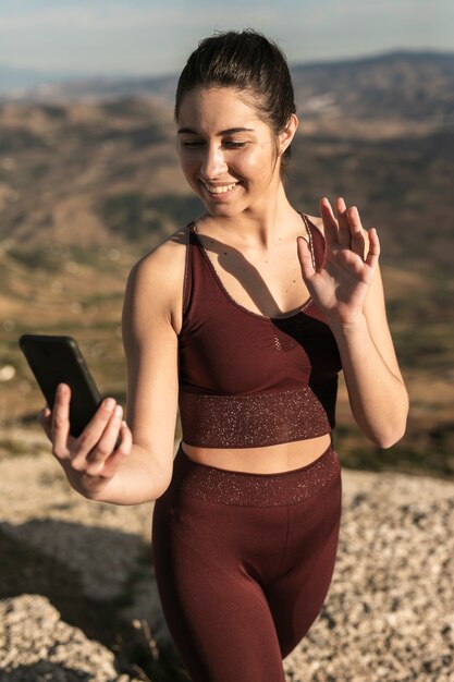
[[[194,192],[213,216],[259,209],[280,184],[280,138],[229,87],[194,88],[179,114],[179,155]]]

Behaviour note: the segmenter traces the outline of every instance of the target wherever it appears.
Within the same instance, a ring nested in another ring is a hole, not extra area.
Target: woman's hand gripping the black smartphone
[[[102,490],[131,453],[132,434],[121,405],[107,398],[81,436],[74,438],[70,435],[70,401],[71,389],[61,383],[53,410],[41,410],[39,421],[72,487],[96,499],[102,497]]]

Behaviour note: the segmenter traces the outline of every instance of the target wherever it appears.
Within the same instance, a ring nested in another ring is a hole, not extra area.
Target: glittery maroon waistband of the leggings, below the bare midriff
[[[180,446],[174,463],[179,495],[206,502],[240,507],[293,504],[316,495],[331,482],[340,483],[338,453],[326,450],[310,464],[279,474],[249,474],[198,464]]]

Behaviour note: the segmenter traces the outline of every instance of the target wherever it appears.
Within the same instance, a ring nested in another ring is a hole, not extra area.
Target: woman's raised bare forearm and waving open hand
[[[367,234],[356,208],[321,202],[326,261],[315,271],[298,240],[303,277],[323,310],[342,358],[353,415],[373,442],[389,448],[405,431],[408,397],[388,326],[375,230]],[[365,256],[365,252],[366,256]]]

